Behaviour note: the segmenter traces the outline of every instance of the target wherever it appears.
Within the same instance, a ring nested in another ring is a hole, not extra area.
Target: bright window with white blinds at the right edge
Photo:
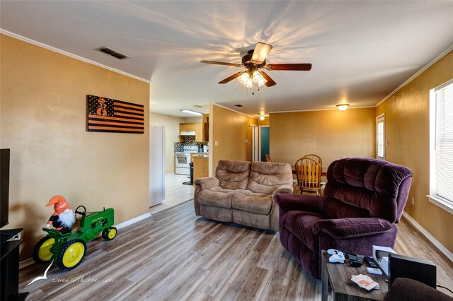
[[[430,91],[430,195],[453,213],[453,79]]]

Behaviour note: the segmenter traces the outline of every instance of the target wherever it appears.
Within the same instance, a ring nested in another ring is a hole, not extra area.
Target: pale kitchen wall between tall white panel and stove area
[[[179,124],[185,122],[185,118],[151,113],[149,115],[151,125],[165,126],[165,173],[175,172],[175,142],[179,142]],[[152,137],[150,137],[152,141]]]

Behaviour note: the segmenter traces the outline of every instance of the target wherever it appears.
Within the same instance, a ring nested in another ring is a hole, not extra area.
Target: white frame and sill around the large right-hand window
[[[436,177],[435,177],[435,152],[432,151],[434,150],[435,147],[435,131],[436,131],[436,97],[435,97],[435,91],[444,87],[445,85],[449,85],[453,83],[453,80],[448,81],[447,83],[443,83],[442,85],[431,89],[430,90],[430,194],[427,194],[426,196],[428,197],[428,200],[431,203],[434,203],[435,205],[439,206],[440,208],[444,209],[445,211],[452,213],[453,214],[453,206],[451,203],[441,199],[438,196],[435,196],[435,183],[436,183]]]

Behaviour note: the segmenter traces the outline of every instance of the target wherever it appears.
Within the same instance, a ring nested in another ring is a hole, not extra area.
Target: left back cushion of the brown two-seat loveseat
[[[219,160],[215,169],[215,177],[219,185],[225,189],[246,189],[250,175],[248,161]]]

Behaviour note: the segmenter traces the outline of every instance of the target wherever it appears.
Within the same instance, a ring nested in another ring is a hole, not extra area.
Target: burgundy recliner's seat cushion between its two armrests
[[[313,228],[318,220],[324,220],[326,216],[321,213],[308,211],[288,211],[286,212],[280,224],[287,228],[289,232],[295,235],[311,251],[317,252],[319,247],[318,236],[314,234]]]

